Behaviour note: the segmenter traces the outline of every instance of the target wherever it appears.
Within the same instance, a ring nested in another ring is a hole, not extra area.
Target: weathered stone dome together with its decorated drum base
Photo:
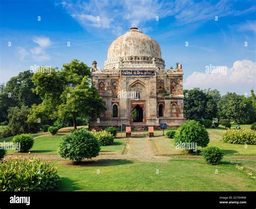
[[[165,67],[157,41],[143,34],[137,27],[131,27],[112,42],[104,64],[105,69],[129,67]]]

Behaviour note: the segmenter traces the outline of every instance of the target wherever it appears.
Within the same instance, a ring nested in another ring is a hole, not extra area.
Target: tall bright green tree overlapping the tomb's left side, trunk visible
[[[104,105],[95,87],[89,85],[90,76],[90,68],[76,59],[64,64],[60,71],[52,69],[51,74],[35,73],[32,78],[36,86],[34,91],[43,102],[32,106],[29,119],[72,117],[76,129],[77,117],[99,115]]]

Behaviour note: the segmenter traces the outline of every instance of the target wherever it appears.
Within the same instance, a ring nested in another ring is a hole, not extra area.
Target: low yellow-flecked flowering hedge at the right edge
[[[256,131],[251,129],[227,129],[222,141],[232,144],[256,144]]]

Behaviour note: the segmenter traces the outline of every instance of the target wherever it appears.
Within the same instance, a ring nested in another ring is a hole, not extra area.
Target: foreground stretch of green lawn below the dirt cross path
[[[82,165],[64,166],[57,162],[56,165],[62,177],[60,191],[253,191],[256,189],[253,179],[226,161],[220,165],[210,166],[196,159],[172,159],[166,163],[106,159]],[[218,169],[217,175],[215,169]],[[157,170],[159,174],[156,173]]]

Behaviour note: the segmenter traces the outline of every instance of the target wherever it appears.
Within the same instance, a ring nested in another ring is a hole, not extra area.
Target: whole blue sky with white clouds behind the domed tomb
[[[74,58],[89,66],[97,60],[103,68],[111,42],[137,26],[158,41],[166,68],[183,65],[184,88],[250,94],[254,2],[1,0],[0,82],[30,66],[60,68]],[[224,66],[226,73],[208,73],[208,66]]]

